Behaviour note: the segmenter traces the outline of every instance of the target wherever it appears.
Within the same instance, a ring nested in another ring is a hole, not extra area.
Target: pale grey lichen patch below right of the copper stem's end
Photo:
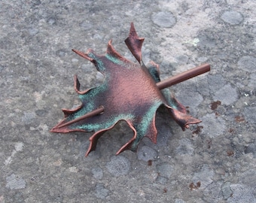
[[[231,105],[233,102],[236,102],[237,100],[237,91],[233,86],[230,84],[227,84],[221,89],[218,89],[217,92],[214,93],[214,100],[215,101],[221,101],[221,104],[223,105]]]

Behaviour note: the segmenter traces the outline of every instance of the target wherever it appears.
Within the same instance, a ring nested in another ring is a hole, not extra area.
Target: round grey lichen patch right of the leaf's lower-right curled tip
[[[202,120],[202,132],[209,135],[210,138],[215,138],[224,132],[226,122],[221,117],[215,117],[215,114],[207,114]]]

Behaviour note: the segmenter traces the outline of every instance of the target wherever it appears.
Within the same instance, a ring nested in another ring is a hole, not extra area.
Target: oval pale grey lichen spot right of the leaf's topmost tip
[[[161,11],[152,16],[153,23],[162,28],[171,28],[175,25],[176,19],[171,12]]]

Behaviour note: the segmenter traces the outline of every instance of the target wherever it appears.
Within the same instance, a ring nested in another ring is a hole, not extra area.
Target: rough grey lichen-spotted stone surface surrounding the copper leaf
[[[0,2],[0,202],[256,202],[256,2]],[[130,22],[143,56],[166,78],[204,62],[212,71],[172,87],[203,120],[182,132],[164,111],[158,142],[116,151],[133,132],[120,123],[85,158],[92,133],[50,133],[61,108],[79,105],[73,89],[102,76],[72,49],[104,53]],[[151,161],[150,161],[151,160]]]

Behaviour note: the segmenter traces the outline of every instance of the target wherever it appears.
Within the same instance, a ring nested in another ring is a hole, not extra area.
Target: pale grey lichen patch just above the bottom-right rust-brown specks
[[[201,168],[199,172],[194,174],[194,177],[192,177],[192,181],[194,185],[197,185],[197,183],[200,182],[200,188],[205,189],[206,186],[209,186],[209,184],[212,183],[213,175],[214,172],[210,170],[207,165],[203,165],[203,168]]]

